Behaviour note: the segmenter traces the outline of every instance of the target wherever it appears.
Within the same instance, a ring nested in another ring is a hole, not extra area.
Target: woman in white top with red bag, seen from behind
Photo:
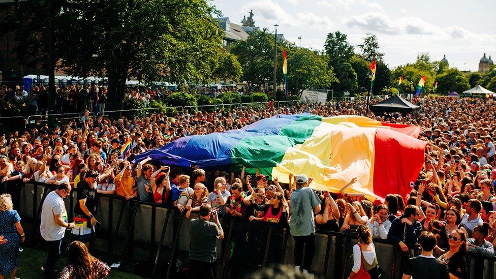
[[[376,247],[372,242],[372,232],[365,225],[358,226],[358,243],[353,246],[353,268],[348,279],[357,273],[366,272],[371,279],[379,278],[381,269],[377,262]]]

